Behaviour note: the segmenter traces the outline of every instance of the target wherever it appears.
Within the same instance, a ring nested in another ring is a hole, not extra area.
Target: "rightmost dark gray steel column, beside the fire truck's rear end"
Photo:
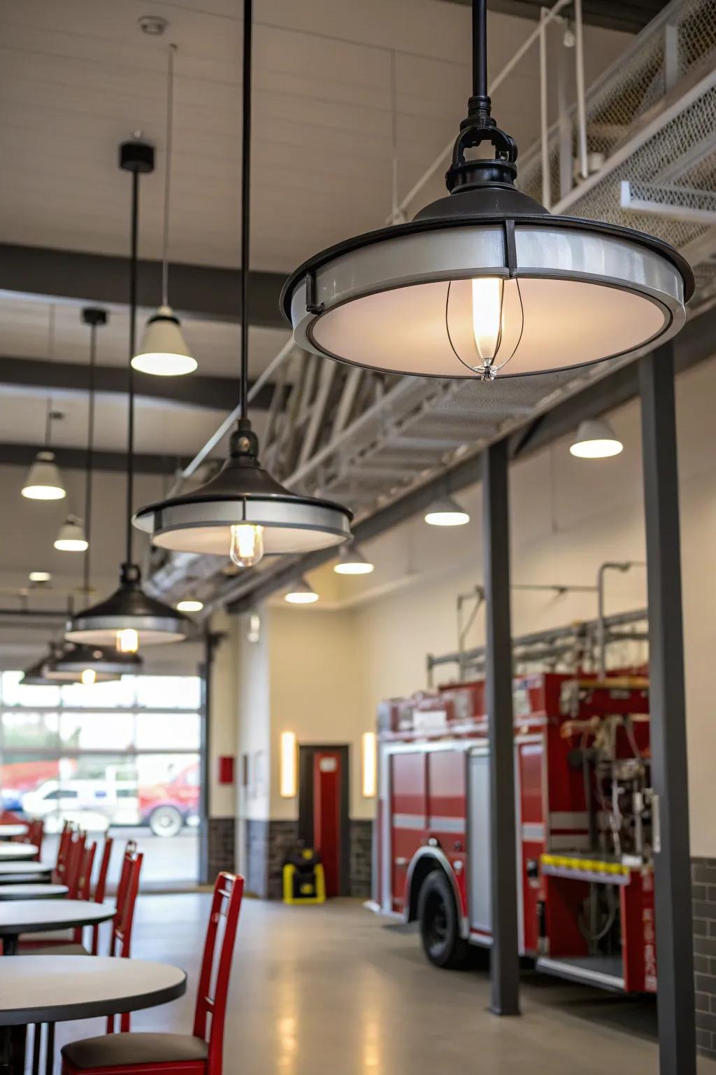
[[[678,474],[671,343],[639,360],[646,513],[660,1075],[696,1075]]]

